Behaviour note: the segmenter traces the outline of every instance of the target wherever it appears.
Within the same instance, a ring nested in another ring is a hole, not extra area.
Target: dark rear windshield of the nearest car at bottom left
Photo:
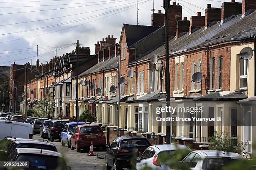
[[[15,161],[28,161],[29,170],[67,170],[64,158],[56,156],[20,154]]]

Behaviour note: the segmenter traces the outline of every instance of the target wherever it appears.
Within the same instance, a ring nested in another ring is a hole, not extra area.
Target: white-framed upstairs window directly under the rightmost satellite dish
[[[240,59],[239,88],[247,88],[248,60]]]

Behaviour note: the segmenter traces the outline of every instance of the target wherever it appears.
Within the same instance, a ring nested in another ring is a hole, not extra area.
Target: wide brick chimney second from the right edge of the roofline
[[[255,2],[254,2],[255,3]],[[242,3],[231,0],[231,2],[223,2],[221,5],[221,22],[231,15],[242,13]]]

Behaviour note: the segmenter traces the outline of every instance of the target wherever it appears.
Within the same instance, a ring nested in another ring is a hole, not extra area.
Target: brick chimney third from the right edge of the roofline
[[[212,7],[212,4],[207,4],[205,9],[205,27],[207,28],[211,23],[221,20],[221,8]]]

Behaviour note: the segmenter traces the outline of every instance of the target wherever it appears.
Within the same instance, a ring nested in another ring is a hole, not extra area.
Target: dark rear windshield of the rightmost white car
[[[222,170],[224,166],[233,163],[236,159],[231,158],[205,158],[203,161],[203,170]]]

